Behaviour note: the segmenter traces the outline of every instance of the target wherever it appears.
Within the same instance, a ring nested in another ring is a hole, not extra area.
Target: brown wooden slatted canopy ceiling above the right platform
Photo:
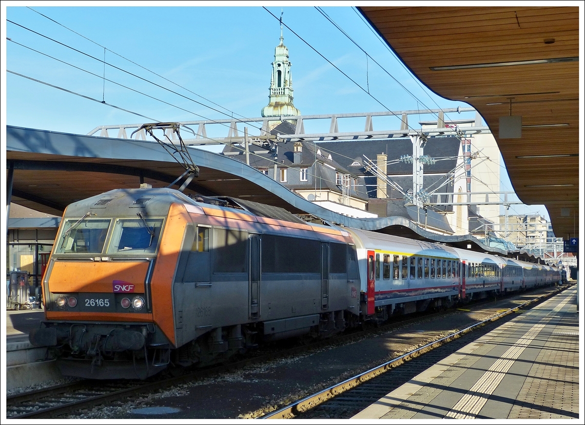
[[[579,57],[577,7],[360,7],[388,45],[431,90],[467,102],[500,146],[520,199],[545,204],[555,234],[579,232],[579,62],[433,70],[435,67]],[[546,41],[546,42],[545,42]],[[520,139],[500,139],[499,119],[522,116]],[[566,186],[553,186],[553,185]],[[535,187],[539,186],[539,187]],[[560,208],[570,211],[561,217]]]

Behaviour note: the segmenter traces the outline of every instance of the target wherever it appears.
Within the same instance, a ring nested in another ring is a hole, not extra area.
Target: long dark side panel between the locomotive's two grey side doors
[[[262,235],[262,273],[321,273],[321,242]]]

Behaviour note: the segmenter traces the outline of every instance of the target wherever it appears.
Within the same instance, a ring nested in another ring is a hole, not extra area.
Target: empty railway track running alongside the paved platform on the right
[[[507,317],[515,311],[534,307],[567,287],[562,286],[554,292],[526,301],[517,307],[497,314],[497,316],[430,342],[359,375],[297,400],[288,406],[274,410],[260,419],[349,419],[414,376],[481,336],[476,332],[472,333],[472,331],[481,328],[481,334],[486,334],[501,325],[500,322],[496,323],[497,320]],[[389,371],[392,372],[386,373]]]

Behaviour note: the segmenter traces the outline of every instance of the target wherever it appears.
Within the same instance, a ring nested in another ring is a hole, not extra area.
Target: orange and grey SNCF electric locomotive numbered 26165
[[[112,190],[67,207],[43,299],[29,339],[56,352],[64,375],[144,379],[345,330],[359,317],[359,270],[340,228],[169,188]]]

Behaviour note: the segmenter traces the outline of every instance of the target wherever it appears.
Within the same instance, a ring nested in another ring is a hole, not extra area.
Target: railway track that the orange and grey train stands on
[[[488,302],[489,301],[487,300],[483,301],[483,303]],[[480,304],[482,304],[481,301],[476,305]],[[320,340],[312,342],[311,344],[298,344],[294,347],[290,347],[289,345],[287,348],[282,348],[282,345],[284,345],[282,343],[274,344],[271,347],[260,349],[246,358],[239,359],[228,365],[212,366],[205,369],[195,370],[185,369],[184,371],[181,371],[182,373],[180,376],[171,376],[170,378],[155,376],[147,382],[121,380],[104,382],[84,380],[32,392],[20,393],[6,397],[6,415],[10,419],[59,417],[77,410],[88,409],[98,405],[107,405],[108,403],[123,400],[126,397],[142,395],[144,393],[168,388],[180,383],[197,381],[216,376],[220,373],[236,371],[249,365],[260,364],[276,358],[294,356],[312,349],[347,344],[355,340],[367,338],[371,335],[387,333],[396,327],[402,327],[420,320],[429,320],[433,317],[442,317],[452,314],[453,312],[453,310],[449,310],[426,314],[425,316],[412,318],[405,317],[404,320],[395,321],[394,323],[382,325],[380,327],[371,327],[367,330],[355,333],[343,334],[339,337]],[[409,357],[413,356],[414,354],[410,354]],[[404,356],[404,358],[406,357],[408,356]],[[386,386],[386,388],[388,387]]]

